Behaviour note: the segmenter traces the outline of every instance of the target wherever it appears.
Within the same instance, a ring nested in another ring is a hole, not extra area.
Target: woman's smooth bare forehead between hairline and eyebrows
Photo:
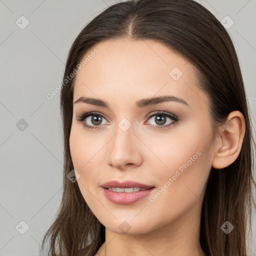
[[[91,54],[97,49],[98,53]],[[91,54],[91,55],[90,55]],[[207,103],[194,66],[154,40],[116,39],[93,45],[75,77],[73,99],[81,95],[131,104],[141,98],[174,95],[191,107]]]

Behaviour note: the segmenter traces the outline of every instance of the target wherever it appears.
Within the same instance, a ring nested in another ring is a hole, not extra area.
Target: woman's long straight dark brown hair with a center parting
[[[115,3],[88,22],[74,40],[63,75],[60,107],[64,138],[63,194],[54,222],[44,234],[50,255],[93,255],[105,241],[104,226],[91,212],[77,182],[69,150],[74,77],[67,79],[95,43],[107,39],[153,39],[189,60],[198,70],[198,86],[210,99],[213,133],[228,113],[239,110],[245,118],[245,135],[238,157],[223,169],[210,170],[202,203],[200,244],[206,255],[248,256],[247,233],[254,207],[255,142],[243,79],[233,43],[221,23],[193,0],[127,0]],[[67,79],[67,80],[65,80]],[[226,234],[228,220],[234,229]],[[89,246],[88,246],[89,245]],[[42,249],[41,249],[42,250]],[[48,255],[49,255],[48,254]]]

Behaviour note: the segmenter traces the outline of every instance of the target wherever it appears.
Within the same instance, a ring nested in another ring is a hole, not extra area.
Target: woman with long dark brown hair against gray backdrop
[[[248,256],[255,143],[234,46],[206,8],[109,6],[74,40],[62,85],[51,255]]]

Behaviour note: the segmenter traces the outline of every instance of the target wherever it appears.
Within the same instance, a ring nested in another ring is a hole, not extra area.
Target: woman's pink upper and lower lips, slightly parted
[[[119,182],[117,180],[111,180],[106,183],[103,183],[101,185],[103,193],[105,197],[113,203],[116,204],[131,204],[134,203],[146,196],[148,196],[152,190],[155,189],[152,185],[146,185],[142,183],[138,183],[132,180],[126,180],[123,182]],[[122,188],[128,188],[128,187],[140,187],[140,188],[146,188],[146,190],[140,190],[137,192],[114,192],[111,190],[108,190],[108,187],[122,187]]]

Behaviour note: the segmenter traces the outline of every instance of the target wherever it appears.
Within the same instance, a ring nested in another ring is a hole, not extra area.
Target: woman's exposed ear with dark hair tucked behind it
[[[230,165],[240,153],[245,133],[245,120],[240,111],[228,114],[226,123],[219,128],[212,167],[216,169]]]

